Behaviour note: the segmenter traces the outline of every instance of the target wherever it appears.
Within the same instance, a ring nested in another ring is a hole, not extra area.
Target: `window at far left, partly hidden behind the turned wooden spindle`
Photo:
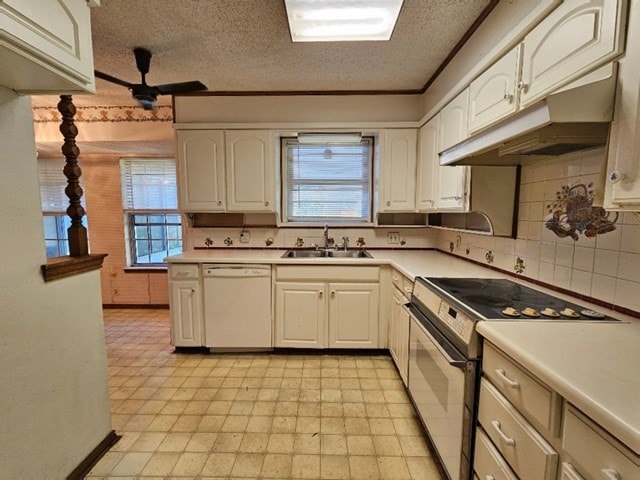
[[[40,183],[40,201],[42,203],[42,224],[47,258],[69,255],[69,236],[71,217],[67,215],[69,197],[64,193],[67,177],[63,173],[66,161],[61,158],[43,158],[38,160],[38,181]],[[82,185],[82,177],[80,177]],[[84,196],[80,199],[84,207]],[[87,227],[87,217],[82,217]]]

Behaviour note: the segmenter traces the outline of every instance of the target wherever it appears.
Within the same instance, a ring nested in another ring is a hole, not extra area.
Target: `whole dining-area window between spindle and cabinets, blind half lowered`
[[[120,160],[129,265],[164,265],[182,253],[174,159]]]

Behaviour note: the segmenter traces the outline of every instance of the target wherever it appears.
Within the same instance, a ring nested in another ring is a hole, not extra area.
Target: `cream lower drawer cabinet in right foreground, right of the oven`
[[[638,455],[489,342],[482,375],[473,467],[478,478],[640,478]]]

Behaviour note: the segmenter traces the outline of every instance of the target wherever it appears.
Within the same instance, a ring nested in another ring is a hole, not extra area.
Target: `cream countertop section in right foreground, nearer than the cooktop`
[[[640,454],[640,322],[486,321],[477,330]]]

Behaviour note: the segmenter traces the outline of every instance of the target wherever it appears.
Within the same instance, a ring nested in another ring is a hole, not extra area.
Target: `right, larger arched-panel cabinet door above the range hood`
[[[563,2],[524,38],[520,106],[526,107],[619,55],[622,0]]]

